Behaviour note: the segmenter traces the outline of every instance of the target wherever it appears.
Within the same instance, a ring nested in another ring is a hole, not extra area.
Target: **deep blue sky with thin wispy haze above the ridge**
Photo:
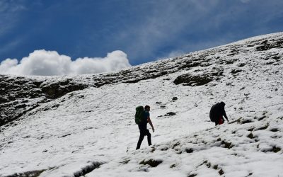
[[[121,50],[129,64],[283,31],[282,0],[0,0],[0,62]]]

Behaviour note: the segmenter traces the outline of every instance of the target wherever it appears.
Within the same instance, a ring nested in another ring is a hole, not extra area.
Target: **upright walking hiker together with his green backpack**
[[[151,145],[151,134],[147,129],[146,125],[149,122],[149,125],[152,127],[152,131],[154,132],[154,125],[152,125],[150,116],[149,116],[150,107],[149,105],[146,106],[138,106],[136,108],[136,114],[134,115],[134,120],[139,125],[139,141],[137,142],[137,148],[141,147],[141,142],[144,140],[144,136],[147,136],[147,142],[149,146]]]

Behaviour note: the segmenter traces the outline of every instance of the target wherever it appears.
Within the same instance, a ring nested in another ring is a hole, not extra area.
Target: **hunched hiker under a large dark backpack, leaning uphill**
[[[220,103],[216,103],[215,105],[212,105],[212,108],[209,112],[209,118],[212,120],[212,122],[215,122],[216,125],[221,125],[224,123],[224,118],[229,122],[225,109],[224,109],[225,103],[221,101]]]

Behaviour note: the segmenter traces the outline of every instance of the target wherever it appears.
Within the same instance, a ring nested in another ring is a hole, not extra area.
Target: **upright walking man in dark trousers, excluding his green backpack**
[[[146,128],[147,122],[149,122],[149,125],[152,127],[152,131],[154,132],[154,125],[152,125],[150,116],[149,116],[150,107],[149,105],[144,106],[144,111],[142,111],[141,115],[141,122],[139,122],[139,141],[137,142],[137,148],[139,149],[141,147],[141,142],[144,139],[144,136],[147,136],[147,142],[149,143],[149,146],[151,145],[151,134],[149,130]]]

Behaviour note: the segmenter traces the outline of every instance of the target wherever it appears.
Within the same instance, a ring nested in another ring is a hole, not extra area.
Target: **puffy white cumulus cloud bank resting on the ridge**
[[[59,55],[56,51],[35,50],[28,57],[6,59],[0,64],[0,74],[14,75],[77,75],[115,72],[131,67],[125,52],[116,50],[106,57],[84,57],[74,61],[67,55]]]

